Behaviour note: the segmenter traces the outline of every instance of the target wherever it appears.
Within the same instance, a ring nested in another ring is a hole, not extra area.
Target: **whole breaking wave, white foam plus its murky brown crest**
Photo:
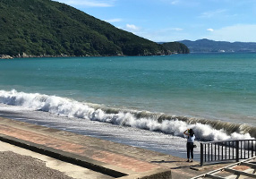
[[[70,98],[0,90],[0,103],[27,107],[55,115],[77,117],[109,124],[130,126],[183,137],[192,128],[200,141],[224,141],[256,138],[256,127],[222,121],[189,118],[147,111],[124,110],[81,103]]]

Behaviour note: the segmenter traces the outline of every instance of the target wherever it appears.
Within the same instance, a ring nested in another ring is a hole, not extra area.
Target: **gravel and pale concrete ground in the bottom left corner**
[[[0,141],[0,179],[113,179],[82,166]],[[86,177],[84,177],[86,176]]]

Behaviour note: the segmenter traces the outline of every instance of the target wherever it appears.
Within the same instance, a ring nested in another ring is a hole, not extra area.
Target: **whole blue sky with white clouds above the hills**
[[[55,0],[155,42],[256,42],[256,0]]]

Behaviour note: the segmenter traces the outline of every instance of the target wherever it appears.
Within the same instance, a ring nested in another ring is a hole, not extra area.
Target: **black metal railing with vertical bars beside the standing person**
[[[247,159],[256,156],[256,140],[201,142],[201,166],[204,163]]]

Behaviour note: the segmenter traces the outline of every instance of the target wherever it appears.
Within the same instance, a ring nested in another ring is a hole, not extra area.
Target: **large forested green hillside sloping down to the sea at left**
[[[161,45],[51,0],[0,0],[0,55],[162,55]]]

